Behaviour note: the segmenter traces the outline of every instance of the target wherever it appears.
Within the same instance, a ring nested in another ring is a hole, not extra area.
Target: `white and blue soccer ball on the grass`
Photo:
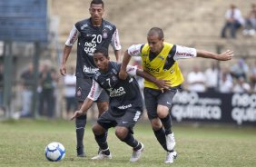
[[[51,142],[45,147],[45,157],[50,162],[58,162],[64,159],[65,149],[60,142]]]

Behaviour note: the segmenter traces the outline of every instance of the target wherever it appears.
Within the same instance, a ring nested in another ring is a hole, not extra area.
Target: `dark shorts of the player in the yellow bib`
[[[148,113],[148,118],[150,120],[157,118],[158,115],[156,113],[157,105],[161,104],[167,106],[169,109],[172,107],[172,98],[175,93],[181,89],[180,86],[173,87],[170,90],[164,91],[163,93],[160,90],[155,90],[151,88],[144,88],[144,100]]]

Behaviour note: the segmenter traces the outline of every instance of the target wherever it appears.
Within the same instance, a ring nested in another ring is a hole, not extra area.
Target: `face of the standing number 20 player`
[[[89,9],[93,22],[101,22],[104,14],[103,5],[92,4]]]

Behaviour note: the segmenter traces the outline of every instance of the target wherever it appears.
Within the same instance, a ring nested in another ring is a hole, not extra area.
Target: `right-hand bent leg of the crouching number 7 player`
[[[117,126],[115,128],[115,135],[122,141],[133,148],[133,154],[130,162],[137,162],[143,153],[144,145],[142,142],[138,142],[133,136],[133,127],[135,123],[142,116],[143,109],[132,109],[126,110],[122,117],[116,119]]]

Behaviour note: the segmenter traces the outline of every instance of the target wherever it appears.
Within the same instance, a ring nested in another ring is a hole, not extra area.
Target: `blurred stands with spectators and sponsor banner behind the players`
[[[90,2],[0,0],[1,120],[68,119],[74,112],[74,107],[66,104],[68,98],[74,97],[70,93],[74,89],[70,87],[75,83],[66,83],[59,74],[60,60],[73,25],[90,17]],[[230,62],[200,58],[179,61],[185,83],[172,108],[176,121],[256,125],[254,0],[104,0],[104,3],[103,17],[117,26],[122,52],[131,44],[146,43],[146,34],[153,26],[162,28],[168,43],[219,54],[227,49],[234,51]],[[224,29],[231,8],[241,12],[235,35],[231,34],[231,26]],[[75,45],[67,63],[71,75],[76,61]],[[110,52],[113,58],[111,49]],[[141,64],[140,59],[132,63]],[[42,84],[43,75],[47,75],[46,86]],[[97,111],[94,111],[93,107],[89,118],[95,119]]]

